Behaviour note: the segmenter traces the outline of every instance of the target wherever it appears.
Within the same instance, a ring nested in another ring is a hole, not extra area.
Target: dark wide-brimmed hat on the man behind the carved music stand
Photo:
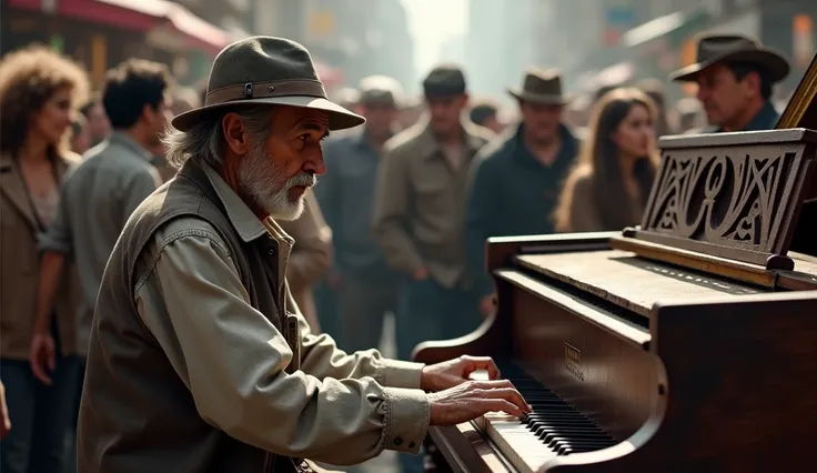
[[[695,62],[682,68],[669,79],[682,82],[694,81],[706,68],[724,62],[746,62],[765,69],[771,82],[779,82],[788,76],[786,58],[771,48],[740,34],[702,34],[697,38]]]

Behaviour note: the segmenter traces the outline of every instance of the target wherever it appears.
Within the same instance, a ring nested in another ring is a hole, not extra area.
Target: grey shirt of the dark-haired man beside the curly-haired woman
[[[92,148],[70,174],[40,249],[70,254],[79,271],[78,343],[84,352],[102,272],[133,210],[161,180],[151,154],[122,131]]]

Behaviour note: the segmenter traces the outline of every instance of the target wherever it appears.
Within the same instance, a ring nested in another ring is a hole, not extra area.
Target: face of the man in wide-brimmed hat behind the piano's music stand
[[[743,80],[723,64],[707,68],[697,77],[698,100],[704,105],[709,124],[723,127],[739,120],[749,101],[757,95],[757,74],[750,73]]]

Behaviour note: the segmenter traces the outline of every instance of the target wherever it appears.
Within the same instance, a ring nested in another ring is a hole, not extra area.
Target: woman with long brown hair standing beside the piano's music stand
[[[557,231],[638,223],[658,164],[655,123],[655,104],[637,89],[612,90],[593,107],[587,139],[554,214]]]

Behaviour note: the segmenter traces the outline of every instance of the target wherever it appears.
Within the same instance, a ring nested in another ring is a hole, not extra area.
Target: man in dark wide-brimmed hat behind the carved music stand
[[[670,74],[697,82],[697,98],[709,128],[704,132],[770,130],[779,114],[770,102],[771,85],[788,76],[778,52],[739,34],[703,34],[695,63]]]

